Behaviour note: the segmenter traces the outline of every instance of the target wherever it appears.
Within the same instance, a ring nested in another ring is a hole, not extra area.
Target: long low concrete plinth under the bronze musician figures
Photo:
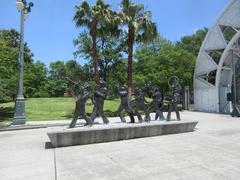
[[[53,147],[120,141],[167,134],[186,133],[194,130],[197,121],[152,121],[142,124],[111,123],[93,127],[51,127],[47,134]]]

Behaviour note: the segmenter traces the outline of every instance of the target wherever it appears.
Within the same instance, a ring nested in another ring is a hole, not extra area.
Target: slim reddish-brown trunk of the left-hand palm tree
[[[98,57],[97,57],[97,31],[96,25],[93,26],[92,29],[92,43],[93,43],[93,65],[95,71],[95,82],[97,87],[99,87],[100,78],[99,78],[99,64],[98,64]]]

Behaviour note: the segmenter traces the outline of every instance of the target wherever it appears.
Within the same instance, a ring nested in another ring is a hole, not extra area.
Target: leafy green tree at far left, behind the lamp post
[[[0,102],[13,100],[17,94],[19,46],[20,35],[16,30],[0,30]],[[32,57],[25,43],[25,65],[32,63]]]

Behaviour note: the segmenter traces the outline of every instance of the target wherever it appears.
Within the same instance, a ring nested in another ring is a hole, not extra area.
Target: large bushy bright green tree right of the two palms
[[[143,45],[136,52],[137,62],[134,64],[134,81],[141,86],[157,85],[168,89],[168,78],[176,75],[182,85],[191,85],[196,56],[181,47],[158,39],[160,48],[154,54],[152,45]],[[154,54],[154,55],[153,55]]]

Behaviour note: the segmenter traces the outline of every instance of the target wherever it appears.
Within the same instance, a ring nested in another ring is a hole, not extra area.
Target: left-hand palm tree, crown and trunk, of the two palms
[[[97,54],[97,37],[105,33],[106,25],[110,22],[111,11],[109,5],[103,0],[97,0],[95,6],[90,6],[87,1],[83,1],[76,6],[76,13],[73,20],[77,27],[86,27],[92,39],[92,59],[95,71],[95,81],[99,86],[99,62]]]

